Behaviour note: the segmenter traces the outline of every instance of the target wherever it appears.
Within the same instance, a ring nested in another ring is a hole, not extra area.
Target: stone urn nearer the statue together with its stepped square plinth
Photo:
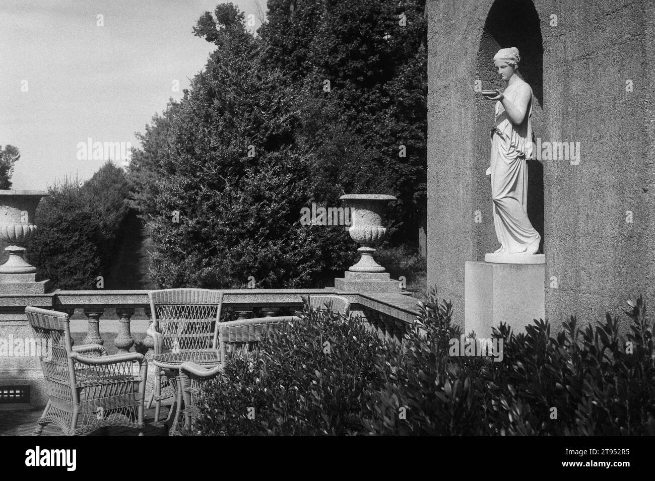
[[[400,293],[400,282],[390,278],[384,267],[375,262],[375,245],[386,236],[384,211],[394,196],[384,194],[346,194],[341,196],[346,207],[352,209],[350,237],[362,247],[357,249],[360,260],[348,268],[344,277],[334,279],[339,291],[364,293]]]

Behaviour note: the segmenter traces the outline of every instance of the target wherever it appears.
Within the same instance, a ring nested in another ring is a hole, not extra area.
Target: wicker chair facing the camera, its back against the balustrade
[[[209,364],[220,363],[217,339],[222,291],[164,289],[148,295],[153,315],[153,329],[149,334],[155,341],[155,355],[197,357],[198,353],[204,353]],[[162,387],[173,377],[173,372],[155,366],[155,386],[148,402],[148,408],[153,401],[156,403],[155,421],[159,421],[161,401],[171,396],[162,395]],[[170,385],[175,389],[175,383]],[[173,412],[171,408],[169,418]]]

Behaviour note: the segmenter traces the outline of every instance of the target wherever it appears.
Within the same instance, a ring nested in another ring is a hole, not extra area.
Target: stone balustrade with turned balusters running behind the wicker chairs
[[[400,291],[400,290],[399,290]],[[388,338],[402,338],[407,323],[416,317],[416,299],[399,293],[356,293],[326,289],[226,289],[223,290],[223,313],[228,319],[293,315],[303,308],[308,295],[339,294],[350,300],[353,315]],[[66,312],[73,319],[84,315],[87,321],[83,344],[103,344],[116,334],[113,344],[119,352],[134,351],[132,319],[151,319],[148,291],[62,291],[46,294],[0,293],[0,339],[31,338],[25,307],[35,306]],[[115,313],[114,313],[115,312]],[[103,327],[103,321],[106,328]],[[111,323],[109,322],[111,321]],[[75,321],[79,322],[79,321]],[[143,321],[142,321],[143,322]],[[150,321],[151,322],[151,321]],[[79,325],[78,325],[79,326]],[[149,336],[143,344],[153,347]],[[0,353],[1,354],[1,353]],[[31,389],[29,406],[45,405],[43,374],[36,357],[3,357],[0,355],[0,389],[3,386],[27,386]],[[16,408],[16,404],[3,404]]]

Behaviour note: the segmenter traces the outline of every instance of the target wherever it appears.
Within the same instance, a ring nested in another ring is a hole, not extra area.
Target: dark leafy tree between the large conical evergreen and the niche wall
[[[362,188],[396,195],[396,222],[416,232],[426,204],[424,0],[269,0],[268,7],[260,34],[269,62],[307,94],[329,99],[350,139],[374,152],[379,179],[367,159],[337,181],[358,177]]]

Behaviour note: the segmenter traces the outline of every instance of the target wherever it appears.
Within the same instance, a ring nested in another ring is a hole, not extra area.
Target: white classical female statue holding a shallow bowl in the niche
[[[507,86],[504,92],[482,92],[485,98],[496,101],[495,122],[491,128],[491,167],[487,173],[491,172],[493,219],[500,248],[494,256],[487,257],[495,259],[488,259],[489,262],[503,262],[498,258],[536,254],[541,236],[527,215],[526,161],[533,156],[530,118],[533,91],[516,75],[520,61],[516,47],[501,48],[493,60],[496,72]]]

